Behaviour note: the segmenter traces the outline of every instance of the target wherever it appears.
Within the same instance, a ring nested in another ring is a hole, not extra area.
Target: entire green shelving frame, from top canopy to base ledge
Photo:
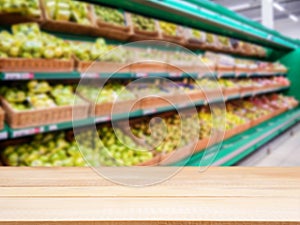
[[[244,17],[241,17],[224,7],[216,5],[210,1],[202,0],[186,0],[186,1],[176,1],[176,0],[86,0],[86,2],[91,2],[94,4],[102,4],[117,8],[122,8],[124,10],[143,14],[145,16],[150,16],[153,18],[166,20],[169,22],[174,22],[181,24],[183,26],[193,27],[196,29],[204,30],[207,32],[216,33],[219,35],[224,35],[251,43],[255,43],[268,49],[267,61],[274,61],[275,59],[280,59],[280,61],[286,65],[290,70],[287,74],[288,78],[291,80],[291,88],[278,88],[271,89],[264,92],[247,93],[245,95],[230,96],[225,100],[238,99],[258,94],[265,94],[277,91],[286,91],[288,94],[298,97],[300,100],[299,88],[300,85],[296,81],[299,81],[300,74],[300,42],[293,40],[291,38],[285,37],[276,31],[267,29],[262,25],[252,22]],[[68,40],[80,40],[80,41],[94,41],[94,37],[76,36],[62,33],[53,34],[60,36]],[[108,43],[109,40],[108,40]],[[122,42],[111,42],[115,44],[122,44]],[[244,57],[252,58],[252,57]],[[107,78],[108,73],[92,73],[86,76],[91,79]],[[207,74],[191,74],[192,77],[207,77]],[[273,76],[273,75],[283,75],[283,74],[215,74],[216,77],[221,78],[239,78],[239,77],[256,77],[256,76]],[[144,76],[158,76],[158,77],[190,77],[187,74],[169,74],[169,73],[123,73],[115,74],[113,78],[116,79],[132,79]],[[13,81],[13,80],[30,80],[30,79],[80,79],[82,74],[79,72],[71,73],[0,73],[0,80],[3,81]],[[215,99],[214,102],[223,101],[224,99]],[[204,105],[206,102],[200,101],[196,105]],[[180,105],[179,108],[186,108],[188,105]],[[130,117],[139,117],[143,115],[166,112],[173,110],[170,107],[155,108],[150,110],[138,110],[132,112]],[[107,122],[111,120],[117,120],[125,118],[125,115],[118,114],[110,117],[97,117],[97,118],[87,118],[80,121],[75,121],[76,125],[89,125],[101,122]],[[127,118],[128,115],[126,115]],[[223,143],[222,150],[217,155],[214,165],[233,165],[241,158],[255,151],[259,146],[266,143],[271,138],[280,134],[283,130],[292,126],[300,120],[300,110],[295,109],[288,111],[276,118],[272,118],[265,123],[254,127],[248,131],[245,131]],[[5,125],[5,129],[0,131],[0,139],[8,138],[18,138],[27,135],[33,135],[43,132],[51,132],[56,130],[64,130],[72,128],[72,122],[50,124],[45,126],[25,128],[25,129],[11,129]],[[251,143],[251,144],[247,144]],[[202,157],[202,152],[195,154],[190,159],[187,165],[198,166],[200,158]],[[176,165],[180,165],[181,162]]]

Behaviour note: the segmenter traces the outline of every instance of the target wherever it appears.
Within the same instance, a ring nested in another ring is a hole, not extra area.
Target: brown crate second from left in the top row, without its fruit
[[[53,20],[49,17],[46,9],[46,1],[40,0],[40,5],[42,8],[42,13],[44,17],[44,22],[41,24],[44,30],[55,31],[65,33],[66,31],[71,34],[78,35],[93,35],[95,31],[96,24],[95,19],[93,17],[92,5],[88,5],[88,20],[90,22],[89,25],[79,24],[72,21],[62,21],[62,20]]]

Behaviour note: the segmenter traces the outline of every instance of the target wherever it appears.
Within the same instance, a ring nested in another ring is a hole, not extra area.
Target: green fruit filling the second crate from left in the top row
[[[73,0],[44,0],[48,17],[58,21],[70,21],[91,25],[87,3]]]

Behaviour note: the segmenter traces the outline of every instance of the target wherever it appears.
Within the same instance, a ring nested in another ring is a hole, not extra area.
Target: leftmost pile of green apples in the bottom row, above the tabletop
[[[10,166],[86,166],[76,143],[64,133],[38,134],[28,143],[10,145],[2,158]]]

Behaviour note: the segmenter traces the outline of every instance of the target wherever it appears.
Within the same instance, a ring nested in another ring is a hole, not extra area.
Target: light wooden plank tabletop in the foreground
[[[125,168],[108,168],[122,176],[120,169]],[[223,167],[200,173],[186,167],[164,183],[137,188],[113,184],[90,168],[0,167],[0,224],[55,221],[300,224],[300,168]]]

